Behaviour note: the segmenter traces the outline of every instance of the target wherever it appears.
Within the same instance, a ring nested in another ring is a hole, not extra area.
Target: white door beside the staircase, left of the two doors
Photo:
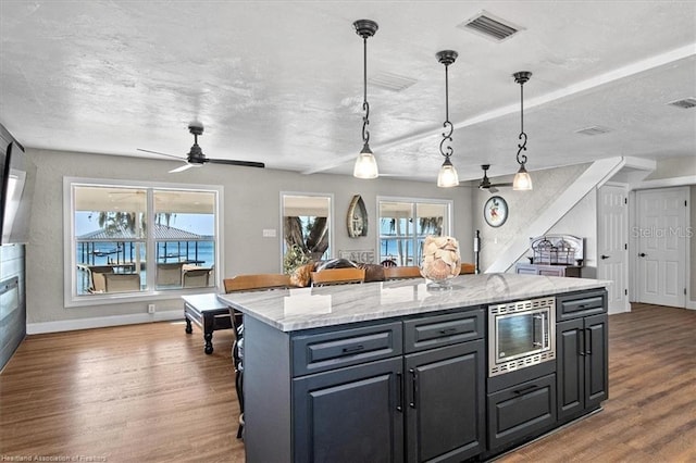
[[[613,281],[607,288],[609,313],[629,312],[629,191],[605,185],[597,201],[597,278]]]

